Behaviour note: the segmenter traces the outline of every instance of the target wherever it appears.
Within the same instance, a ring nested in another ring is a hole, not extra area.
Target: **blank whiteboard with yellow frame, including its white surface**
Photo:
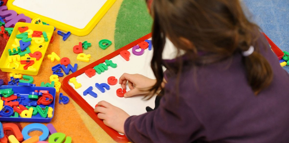
[[[9,0],[8,10],[77,36],[89,34],[116,0]]]

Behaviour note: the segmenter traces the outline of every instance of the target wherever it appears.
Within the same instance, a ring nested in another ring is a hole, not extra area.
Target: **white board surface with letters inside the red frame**
[[[121,88],[121,85],[118,83],[113,86],[110,85],[110,90],[105,90],[105,93],[101,93],[95,87],[95,83],[107,83],[107,79],[110,76],[114,76],[116,77],[116,79],[119,79],[123,73],[142,74],[149,78],[155,79],[155,76],[153,75],[152,69],[150,67],[153,50],[149,51],[148,49],[146,49],[144,54],[141,56],[136,56],[132,54],[131,50],[132,48],[128,50],[131,53],[129,61],[125,61],[125,59],[123,59],[123,57],[121,57],[120,55],[117,55],[116,57],[110,59],[113,61],[113,63],[117,64],[116,68],[108,67],[107,71],[101,74],[96,74],[92,78],[89,78],[88,76],[86,76],[86,74],[81,74],[76,77],[77,82],[80,83],[82,86],[79,89],[75,89],[75,91],[77,91],[77,93],[81,95],[81,97],[84,98],[84,100],[86,100],[86,102],[92,108],[95,108],[95,105],[99,101],[104,100],[118,108],[123,109],[130,116],[132,116],[146,113],[147,111],[145,108],[147,106],[151,108],[155,107],[155,96],[149,100],[142,99],[143,96],[134,96],[129,98],[118,97],[116,95],[116,90]],[[167,42],[163,53],[163,57],[165,57],[165,59],[174,58],[176,52],[173,44],[170,41]],[[72,83],[69,84],[74,89],[74,85]],[[92,91],[97,93],[97,98],[94,98],[91,95],[83,95],[83,92],[90,86],[93,87]],[[127,91],[129,91],[128,85]]]

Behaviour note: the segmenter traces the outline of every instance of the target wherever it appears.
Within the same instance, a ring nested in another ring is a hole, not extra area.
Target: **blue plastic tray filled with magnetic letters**
[[[39,123],[49,123],[51,122],[53,116],[54,116],[54,105],[55,105],[55,94],[56,94],[56,90],[53,87],[37,87],[37,86],[11,86],[11,85],[2,85],[0,86],[0,89],[13,89],[14,91],[14,95],[16,95],[16,93],[20,93],[21,96],[24,96],[25,99],[23,101],[21,101],[19,104],[23,104],[24,102],[28,102],[28,101],[36,101],[36,100],[30,100],[28,98],[29,92],[34,92],[35,90],[47,90],[49,91],[49,94],[51,94],[53,96],[53,102],[47,106],[52,107],[53,108],[53,112],[52,112],[52,117],[51,118],[43,118],[40,116],[40,114],[38,113],[35,116],[32,116],[32,118],[21,118],[20,116],[18,118],[15,117],[0,117],[0,121],[6,121],[6,122],[39,122]],[[1,100],[1,99],[0,99]],[[16,101],[12,100],[12,101]],[[5,103],[5,101],[4,101]],[[40,104],[40,107],[45,107],[45,105]],[[14,115],[14,114],[13,114]]]

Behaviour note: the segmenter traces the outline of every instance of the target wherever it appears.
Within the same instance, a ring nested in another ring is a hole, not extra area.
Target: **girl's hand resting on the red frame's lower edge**
[[[129,117],[129,114],[121,108],[115,107],[106,101],[100,101],[94,112],[98,113],[97,117],[102,119],[105,125],[120,133],[125,133],[125,120]]]

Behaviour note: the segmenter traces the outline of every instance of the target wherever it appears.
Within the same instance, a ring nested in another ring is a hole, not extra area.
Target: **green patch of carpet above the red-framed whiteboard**
[[[151,32],[152,18],[144,0],[124,0],[115,25],[115,50]]]

